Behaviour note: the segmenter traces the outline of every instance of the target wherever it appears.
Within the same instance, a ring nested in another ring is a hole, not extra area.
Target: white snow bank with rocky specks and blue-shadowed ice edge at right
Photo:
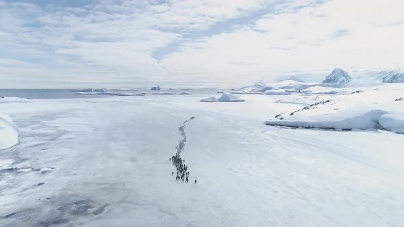
[[[401,85],[307,88],[301,92],[307,100],[312,100],[312,104],[290,114],[278,114],[266,124],[320,129],[386,129],[399,133],[401,123],[398,119],[404,115],[404,106],[396,97],[403,91]],[[381,124],[382,116],[390,113],[396,114],[396,120],[384,118],[384,124]]]

